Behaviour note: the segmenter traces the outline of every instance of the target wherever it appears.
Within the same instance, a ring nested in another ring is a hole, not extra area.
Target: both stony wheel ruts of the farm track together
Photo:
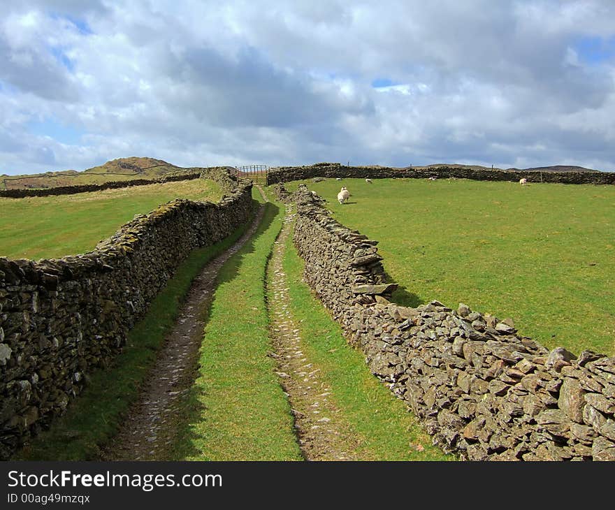
[[[263,189],[256,184],[267,201]],[[254,235],[263,216],[259,209],[252,225],[224,253],[210,261],[194,282],[178,319],[150,370],[138,400],[131,406],[117,435],[103,449],[101,460],[169,460],[177,439],[178,416],[194,384],[203,342],[205,312],[215,294],[222,265]],[[289,309],[287,275],[282,267],[294,214],[287,209],[282,231],[268,263],[268,313],[276,374],[287,394],[298,444],[305,460],[371,460],[356,453],[361,438],[340,415],[331,400],[331,388],[319,368],[305,355],[305,340]]]

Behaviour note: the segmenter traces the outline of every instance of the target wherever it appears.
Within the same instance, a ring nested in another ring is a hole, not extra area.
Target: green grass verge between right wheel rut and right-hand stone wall
[[[303,261],[289,236],[284,255],[290,306],[307,358],[320,369],[347,423],[365,440],[362,449],[377,460],[454,460],[431,446],[406,405],[372,374],[365,357],[347,344],[342,330],[301,281]]]

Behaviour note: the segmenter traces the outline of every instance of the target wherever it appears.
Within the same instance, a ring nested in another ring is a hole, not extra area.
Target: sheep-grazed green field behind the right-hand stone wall
[[[379,240],[398,303],[463,302],[512,317],[546,347],[615,354],[615,187],[303,182],[338,221]],[[335,199],[342,185],[352,194],[344,205]]]

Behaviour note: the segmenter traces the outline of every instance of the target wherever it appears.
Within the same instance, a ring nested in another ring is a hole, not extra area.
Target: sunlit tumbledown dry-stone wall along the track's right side
[[[465,460],[615,460],[615,358],[548,351],[510,319],[389,300],[376,241],[296,194],[305,281],[370,370]]]

